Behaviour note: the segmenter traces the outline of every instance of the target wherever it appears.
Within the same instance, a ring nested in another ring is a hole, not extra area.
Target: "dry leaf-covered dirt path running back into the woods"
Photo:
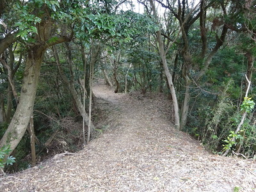
[[[0,191],[256,191],[256,162],[210,154],[172,125],[170,100],[160,94],[93,89],[108,120],[83,150],[2,175]]]

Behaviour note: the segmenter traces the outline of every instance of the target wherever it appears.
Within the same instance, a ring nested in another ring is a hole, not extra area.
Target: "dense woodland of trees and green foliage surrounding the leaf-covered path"
[[[102,132],[93,78],[115,93],[164,93],[177,129],[214,153],[255,157],[255,1],[138,3],[143,13],[129,0],[0,2],[2,167]]]

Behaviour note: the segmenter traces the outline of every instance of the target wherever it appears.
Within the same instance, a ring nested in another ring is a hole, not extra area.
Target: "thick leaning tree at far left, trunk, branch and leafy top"
[[[0,141],[1,147],[10,145],[12,150],[17,147],[23,137],[33,113],[40,68],[46,49],[52,45],[66,42],[72,36],[52,36],[54,20],[51,18],[51,13],[56,11],[56,6],[59,4],[58,1],[45,2],[46,4],[38,1],[29,1],[25,4],[17,2],[18,8],[20,7],[24,11],[24,18],[31,18],[35,25],[33,28],[27,28],[18,33],[24,39],[29,38],[30,42],[26,44],[27,58],[19,104],[8,129]],[[31,13],[37,13],[38,15],[30,15]],[[28,26],[28,23],[22,20],[17,25],[19,25],[19,28],[22,28],[22,26]],[[29,29],[32,30],[30,31]],[[12,150],[10,153],[12,153]]]

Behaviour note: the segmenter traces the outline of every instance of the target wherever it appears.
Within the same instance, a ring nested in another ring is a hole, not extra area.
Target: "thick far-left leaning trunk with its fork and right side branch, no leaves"
[[[37,25],[37,30],[40,36],[35,35],[35,43],[28,49],[19,104],[17,105],[8,129],[0,141],[0,147],[10,145],[11,150],[6,156],[9,156],[17,147],[28,127],[29,120],[33,113],[40,68],[46,49],[51,45],[70,40],[70,38],[66,36],[60,36],[56,37],[55,41],[49,41],[52,30],[52,22],[50,21],[43,20]],[[73,33],[71,36],[72,35]]]

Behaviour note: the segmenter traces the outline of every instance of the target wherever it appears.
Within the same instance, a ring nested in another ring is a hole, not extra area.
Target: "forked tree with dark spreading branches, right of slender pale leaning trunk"
[[[228,31],[228,26],[223,21],[223,19],[227,17],[232,17],[231,15],[234,14],[234,10],[230,9],[228,7],[229,3],[224,1],[218,3],[214,1],[202,0],[199,4],[195,4],[194,1],[189,3],[186,0],[178,0],[177,5],[171,4],[168,0],[156,1],[164,8],[170,10],[170,13],[173,15],[173,17],[175,17],[179,21],[179,28],[181,31],[182,39],[182,45],[180,45],[180,55],[182,56],[181,73],[184,79],[185,87],[184,99],[181,106],[180,127],[181,129],[184,129],[189,112],[191,84],[198,84],[199,79],[205,75],[205,72],[207,72],[213,56],[223,45],[225,36]],[[207,10],[210,9],[213,5],[218,12],[220,12],[219,10],[221,10],[222,14],[225,15],[225,17],[223,17],[223,19],[221,20],[218,17],[219,15],[215,17],[214,20],[218,22],[216,22],[215,24],[213,23],[211,31],[209,31],[209,29],[207,29],[205,26],[207,20]],[[193,29],[193,25],[195,25],[197,20],[199,20],[200,24],[201,45],[199,46],[201,47],[201,52],[195,51],[191,47],[191,44],[193,44],[194,42],[191,42],[193,38],[191,38],[190,33],[191,29]],[[220,29],[221,33],[218,32],[220,31]],[[212,32],[216,33],[216,40],[213,49],[209,49],[209,44],[212,44],[212,38],[210,38]]]

